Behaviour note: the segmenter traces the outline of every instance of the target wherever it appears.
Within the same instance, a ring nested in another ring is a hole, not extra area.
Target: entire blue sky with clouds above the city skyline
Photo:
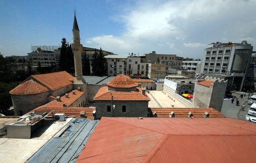
[[[256,47],[256,0],[0,1],[0,52],[72,42],[74,9],[81,44],[118,55],[151,51],[202,58],[213,42]]]

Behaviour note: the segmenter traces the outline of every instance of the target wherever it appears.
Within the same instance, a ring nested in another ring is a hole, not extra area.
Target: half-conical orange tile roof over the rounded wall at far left
[[[49,92],[49,89],[31,79],[13,88],[9,93],[11,95],[29,95],[43,92]]]

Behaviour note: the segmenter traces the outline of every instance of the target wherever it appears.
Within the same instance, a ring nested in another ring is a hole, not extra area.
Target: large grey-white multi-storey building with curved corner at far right
[[[204,49],[201,75],[229,80],[227,90],[241,91],[248,73],[252,46],[242,43],[212,43]]]

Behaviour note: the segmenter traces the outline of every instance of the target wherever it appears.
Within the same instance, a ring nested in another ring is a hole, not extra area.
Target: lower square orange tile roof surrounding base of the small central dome
[[[138,88],[138,90],[141,90]],[[94,100],[118,100],[118,101],[150,101],[150,98],[142,95],[141,91],[124,92],[108,90],[107,86],[101,87],[94,97]]]

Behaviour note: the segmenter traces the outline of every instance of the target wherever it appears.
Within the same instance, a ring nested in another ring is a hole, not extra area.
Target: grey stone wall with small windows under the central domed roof
[[[111,101],[96,101],[96,119],[101,117],[147,117],[148,101],[114,101],[114,113],[107,112],[107,106]],[[126,112],[122,112],[122,106],[126,106]]]

